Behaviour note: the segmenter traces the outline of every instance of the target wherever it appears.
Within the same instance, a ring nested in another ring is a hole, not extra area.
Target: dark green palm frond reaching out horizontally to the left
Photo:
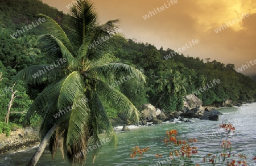
[[[53,66],[52,70],[49,69],[53,65],[34,65],[27,67],[19,71],[13,78],[16,80],[26,80],[28,84],[42,84],[42,83],[52,83],[53,81],[63,78],[65,76],[63,66]]]

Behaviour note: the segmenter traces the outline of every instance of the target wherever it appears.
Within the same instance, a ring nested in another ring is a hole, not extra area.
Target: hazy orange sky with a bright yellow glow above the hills
[[[67,6],[76,2],[42,1],[66,14]],[[236,70],[243,66],[241,73],[256,75],[256,0],[92,2],[100,23],[121,19],[122,35],[127,39],[170,48],[185,56],[232,63]]]

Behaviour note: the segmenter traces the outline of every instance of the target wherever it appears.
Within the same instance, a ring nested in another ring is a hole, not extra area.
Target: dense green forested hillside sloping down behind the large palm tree
[[[23,31],[24,27],[39,22],[39,18],[43,18],[39,14],[45,14],[59,23],[65,31],[63,25],[68,23],[69,15],[36,0],[9,0],[0,3],[0,129],[5,128],[6,131],[9,126],[3,122],[8,108],[10,124],[22,124],[32,101],[48,86],[47,82],[39,86],[31,86],[22,81],[14,84],[11,81],[13,77],[28,66],[52,64],[56,61],[53,57],[46,58],[43,42],[37,41],[40,35],[47,33],[43,23],[28,31]],[[22,32],[16,37],[11,36],[18,31]],[[190,93],[195,93],[203,101],[203,105],[215,106],[222,105],[226,100],[241,103],[254,101],[256,98],[256,83],[249,76],[237,73],[233,64],[225,65],[215,61],[214,57],[187,57],[174,53],[172,49],[158,50],[154,45],[131,39],[123,40],[121,36],[115,36],[114,39],[116,49],[112,55],[104,55],[102,62],[118,60],[135,66],[138,70],[143,69],[148,77],[145,86],[137,86],[133,79],[124,80],[120,84],[115,84],[119,80],[109,82],[110,86],[114,84],[137,108],[151,103],[167,112],[179,110],[183,107],[184,96]],[[217,80],[220,83],[216,83]],[[205,86],[208,89],[199,93],[200,88]],[[13,103],[11,108],[9,103]],[[110,117],[117,116],[117,110],[107,104],[104,107]],[[32,122],[32,125],[40,125],[40,117],[35,116]]]

